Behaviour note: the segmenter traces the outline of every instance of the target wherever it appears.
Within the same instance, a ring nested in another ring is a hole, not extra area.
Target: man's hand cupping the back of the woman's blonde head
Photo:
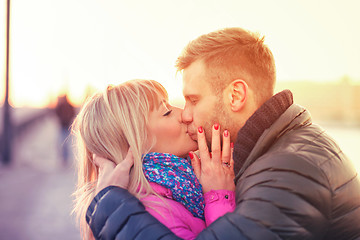
[[[94,163],[99,168],[99,178],[95,195],[108,186],[118,186],[127,189],[129,185],[130,169],[134,165],[134,158],[129,149],[124,161],[115,165],[109,159],[93,155]]]

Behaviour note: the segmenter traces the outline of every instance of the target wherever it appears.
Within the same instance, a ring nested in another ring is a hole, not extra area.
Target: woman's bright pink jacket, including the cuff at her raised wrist
[[[218,217],[235,209],[235,193],[227,190],[211,190],[205,193],[205,221],[194,217],[181,203],[173,200],[170,189],[150,183],[163,198],[149,195],[141,201],[146,210],[182,239],[194,239]]]

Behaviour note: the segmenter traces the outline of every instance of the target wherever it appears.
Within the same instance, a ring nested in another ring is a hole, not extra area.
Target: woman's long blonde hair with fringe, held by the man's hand
[[[142,155],[151,147],[147,135],[149,112],[164,99],[168,100],[168,94],[160,83],[130,80],[93,95],[77,115],[72,126],[78,145],[78,183],[73,212],[80,222],[83,239],[93,239],[85,220],[98,179],[93,154],[117,164],[131,147],[134,166],[128,190],[138,198],[154,194],[142,170]]]

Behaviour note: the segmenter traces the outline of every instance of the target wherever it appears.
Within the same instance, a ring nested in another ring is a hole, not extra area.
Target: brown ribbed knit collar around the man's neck
[[[245,125],[238,132],[234,146],[234,171],[239,172],[245,160],[253,150],[256,142],[285,111],[293,104],[293,96],[290,90],[277,93],[266,101],[246,121]]]

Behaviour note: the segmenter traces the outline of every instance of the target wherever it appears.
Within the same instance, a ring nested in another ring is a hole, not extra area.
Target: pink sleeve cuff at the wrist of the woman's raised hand
[[[219,217],[235,210],[235,192],[228,190],[211,190],[204,194],[205,222],[209,226]]]

